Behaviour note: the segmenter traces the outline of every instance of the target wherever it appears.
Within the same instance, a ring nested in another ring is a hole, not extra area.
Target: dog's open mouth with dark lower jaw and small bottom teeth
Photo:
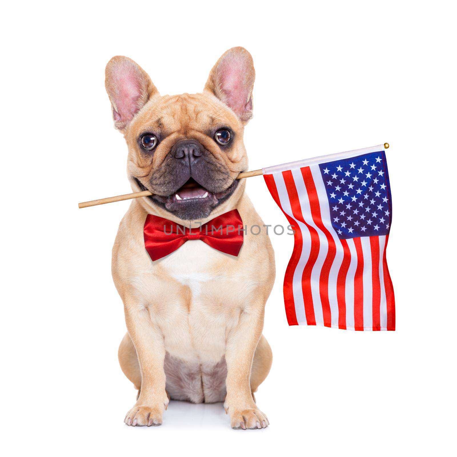
[[[141,190],[149,190],[137,178],[134,179]],[[220,205],[233,194],[237,185],[238,180],[235,179],[224,191],[211,192],[193,178],[189,178],[183,186],[171,195],[162,196],[154,194],[148,198],[181,219],[196,220],[197,218],[206,218],[209,216],[213,208]]]

